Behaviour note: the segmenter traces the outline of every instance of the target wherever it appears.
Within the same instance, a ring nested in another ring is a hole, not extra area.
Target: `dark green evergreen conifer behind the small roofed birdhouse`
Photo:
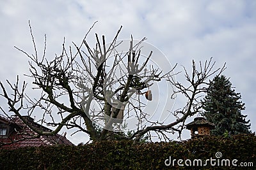
[[[225,76],[216,76],[207,90],[203,103],[204,113],[202,115],[209,122],[216,125],[211,134],[248,134],[251,131],[249,122],[245,120],[247,115],[242,115],[245,109],[241,102],[241,94],[236,93],[231,83]]]

